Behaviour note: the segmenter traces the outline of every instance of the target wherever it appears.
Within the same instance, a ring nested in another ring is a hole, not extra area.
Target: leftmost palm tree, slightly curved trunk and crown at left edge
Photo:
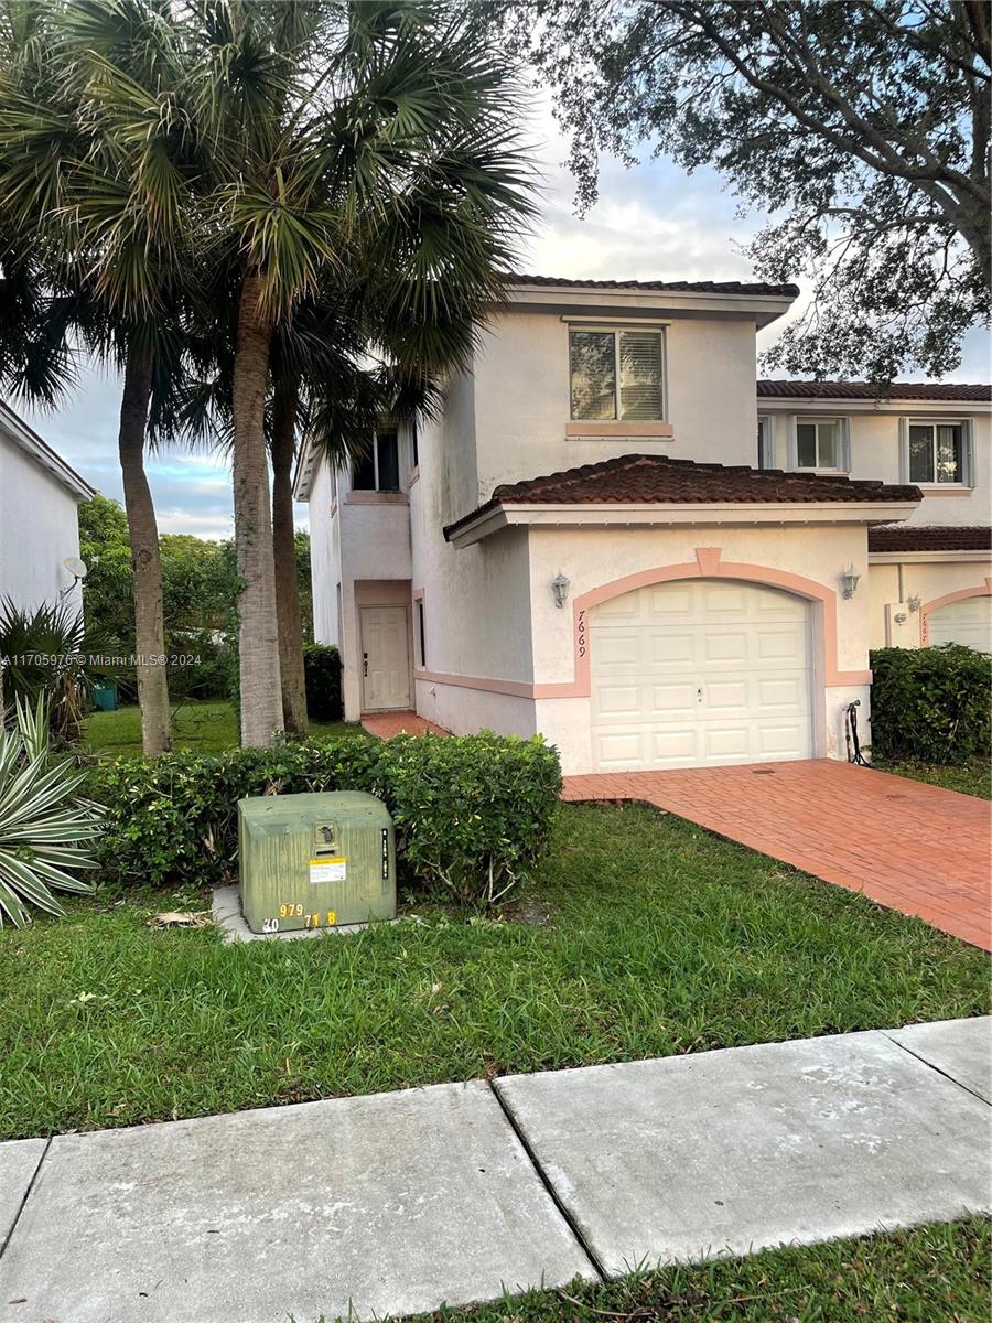
[[[11,335],[0,365],[21,393],[49,405],[73,384],[66,348],[73,337],[123,373],[118,451],[134,564],[142,744],[153,755],[171,741],[167,672],[159,664],[165,648],[157,521],[144,447],[149,406],[180,370],[184,266],[173,212],[148,198],[169,183],[177,148],[189,139],[168,99],[143,89],[179,82],[179,61],[153,5],[11,4],[3,17],[0,179],[12,235],[5,283],[24,283],[19,255],[32,251],[30,274],[45,295],[36,304],[38,331],[25,344],[28,310],[8,291]],[[136,153],[122,151],[128,135],[140,144]],[[44,333],[49,319],[53,329]]]

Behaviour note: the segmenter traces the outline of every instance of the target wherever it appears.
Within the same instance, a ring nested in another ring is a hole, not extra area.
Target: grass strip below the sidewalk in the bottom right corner
[[[987,1323],[989,1249],[988,1220],[970,1217],[575,1282],[409,1323]]]

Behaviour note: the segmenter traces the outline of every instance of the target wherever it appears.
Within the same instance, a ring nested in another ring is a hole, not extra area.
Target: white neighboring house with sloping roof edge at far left
[[[0,598],[29,610],[82,594],[66,560],[79,556],[81,501],[93,487],[0,402]]]

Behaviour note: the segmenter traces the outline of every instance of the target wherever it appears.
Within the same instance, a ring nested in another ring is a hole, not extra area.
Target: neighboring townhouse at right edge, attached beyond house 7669
[[[868,534],[872,647],[992,647],[992,386],[759,381],[758,462],[915,483],[919,508]]]

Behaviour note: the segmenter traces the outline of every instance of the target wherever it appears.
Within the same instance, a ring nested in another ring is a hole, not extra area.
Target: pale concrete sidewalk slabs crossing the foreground
[[[989,1209],[991,1025],[0,1144],[0,1320],[370,1319]]]

